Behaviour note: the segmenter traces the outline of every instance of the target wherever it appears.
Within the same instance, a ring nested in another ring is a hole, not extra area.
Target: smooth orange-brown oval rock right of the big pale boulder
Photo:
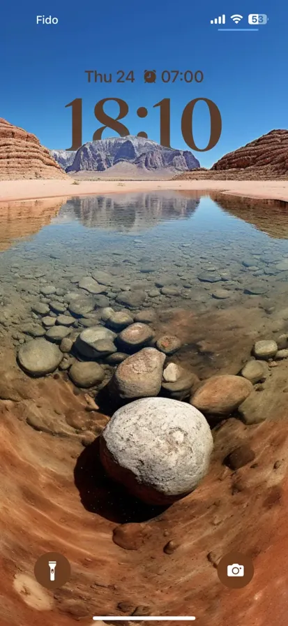
[[[252,383],[241,376],[212,376],[195,391],[190,404],[207,414],[229,415],[248,398],[252,389]]]

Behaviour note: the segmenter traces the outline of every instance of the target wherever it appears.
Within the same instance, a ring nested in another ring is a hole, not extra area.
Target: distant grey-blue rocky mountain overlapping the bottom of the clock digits
[[[131,173],[156,173],[168,170],[169,174],[199,168],[199,161],[190,150],[174,150],[156,141],[137,136],[112,137],[84,143],[77,152],[51,150],[52,157],[66,172],[98,172],[109,170],[119,175],[121,167]]]

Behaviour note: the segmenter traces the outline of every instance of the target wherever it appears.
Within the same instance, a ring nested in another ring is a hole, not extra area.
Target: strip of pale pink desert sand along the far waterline
[[[91,194],[120,194],[137,191],[221,191],[237,196],[288,201],[288,180],[129,180],[91,181],[73,184],[68,180],[1,180],[0,203],[40,198],[70,198]],[[1,206],[1,205],[0,205]]]

